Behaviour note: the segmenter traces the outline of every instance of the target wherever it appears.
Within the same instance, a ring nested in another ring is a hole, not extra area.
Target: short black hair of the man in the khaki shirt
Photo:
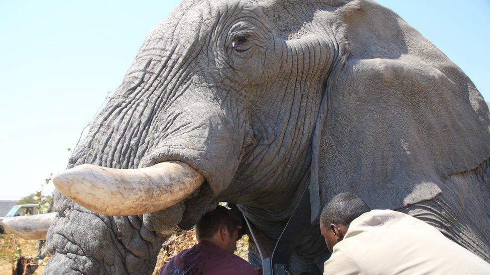
[[[355,218],[369,211],[371,211],[369,206],[358,196],[340,193],[325,205],[320,215],[320,223],[325,228],[332,223],[349,226]]]

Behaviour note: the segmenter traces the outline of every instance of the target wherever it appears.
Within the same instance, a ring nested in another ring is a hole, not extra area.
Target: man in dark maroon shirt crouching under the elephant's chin
[[[258,274],[252,264],[233,254],[239,227],[241,221],[223,206],[204,214],[196,224],[198,243],[167,262],[160,275]]]

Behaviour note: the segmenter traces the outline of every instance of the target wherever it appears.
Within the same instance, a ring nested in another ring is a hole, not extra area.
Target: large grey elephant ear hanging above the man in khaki
[[[372,209],[432,199],[490,156],[488,107],[461,69],[383,6],[336,13],[345,46],[313,137],[312,222],[341,192]]]

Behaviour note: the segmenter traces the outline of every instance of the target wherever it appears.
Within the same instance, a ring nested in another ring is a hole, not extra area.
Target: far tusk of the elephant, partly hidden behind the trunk
[[[46,239],[49,226],[56,212],[32,216],[4,218],[2,223],[7,233],[13,233],[24,239]]]

